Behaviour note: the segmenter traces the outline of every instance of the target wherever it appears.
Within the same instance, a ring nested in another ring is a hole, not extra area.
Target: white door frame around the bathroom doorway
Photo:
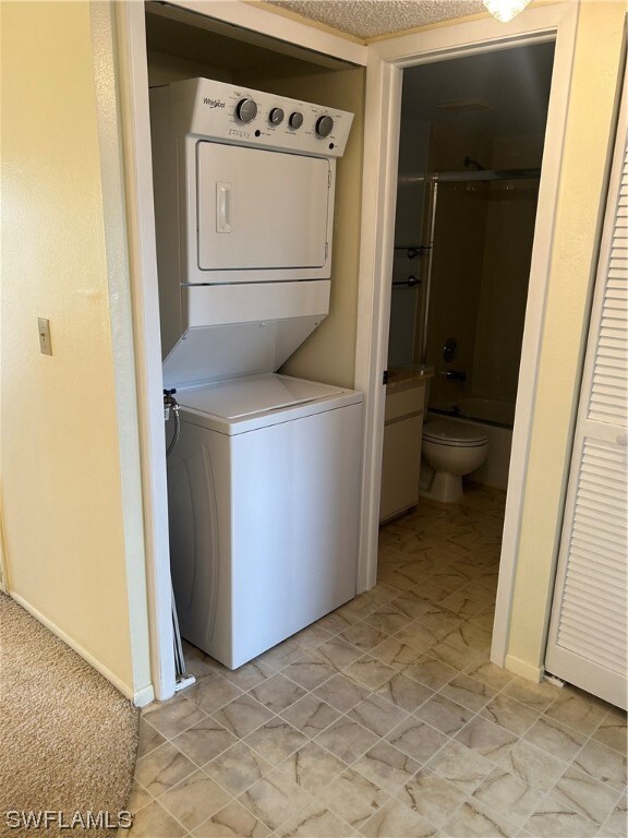
[[[494,49],[556,40],[491,655],[499,666],[504,666],[508,645],[578,8],[577,2],[556,3],[529,9],[508,24],[493,19],[475,20],[391,38],[369,47],[355,354],[355,386],[365,394],[360,590],[372,587],[377,573],[386,398],[383,372],[387,362],[390,316],[387,277],[392,265],[402,69]]]

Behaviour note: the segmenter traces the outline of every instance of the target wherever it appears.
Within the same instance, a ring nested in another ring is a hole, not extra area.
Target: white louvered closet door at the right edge
[[[627,85],[625,84],[625,89]],[[628,137],[619,119],[545,669],[627,704]]]

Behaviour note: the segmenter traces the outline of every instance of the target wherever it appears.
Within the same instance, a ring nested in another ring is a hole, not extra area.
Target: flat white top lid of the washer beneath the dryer
[[[340,387],[329,384],[269,373],[181,390],[177,399],[181,407],[213,414],[229,421],[341,393]]]

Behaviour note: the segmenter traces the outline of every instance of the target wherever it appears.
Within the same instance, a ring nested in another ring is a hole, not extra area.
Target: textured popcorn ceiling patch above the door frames
[[[482,0],[267,0],[267,2],[364,40],[486,11]]]

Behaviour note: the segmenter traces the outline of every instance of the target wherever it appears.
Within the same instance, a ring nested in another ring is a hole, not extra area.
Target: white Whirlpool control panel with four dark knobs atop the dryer
[[[209,79],[168,86],[174,133],[238,145],[341,157],[353,115]]]

